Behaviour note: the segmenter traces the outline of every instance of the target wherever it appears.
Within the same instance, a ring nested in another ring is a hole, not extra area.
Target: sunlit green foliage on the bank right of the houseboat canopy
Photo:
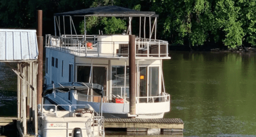
[[[256,0],[155,0],[160,32],[174,44],[256,45]],[[161,19],[162,18],[162,19]],[[167,36],[167,37],[166,37]]]

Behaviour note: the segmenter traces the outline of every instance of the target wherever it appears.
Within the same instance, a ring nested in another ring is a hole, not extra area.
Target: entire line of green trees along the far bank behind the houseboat
[[[1,0],[0,27],[36,28],[36,10],[43,10],[43,33],[54,34],[54,13],[106,5],[155,11],[159,14],[157,39],[172,45],[231,49],[256,45],[256,0]],[[87,21],[88,32],[94,32],[97,24],[105,34],[121,33],[127,26],[127,21],[116,18],[89,17]],[[133,27],[134,32],[137,29]]]

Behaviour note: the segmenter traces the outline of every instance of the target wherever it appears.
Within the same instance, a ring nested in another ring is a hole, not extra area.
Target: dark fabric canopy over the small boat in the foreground
[[[66,93],[70,90],[77,90],[77,92],[82,92],[87,89],[93,89],[94,92],[100,94],[103,97],[103,86],[96,83],[84,83],[84,82],[65,82],[65,83],[55,83],[45,85],[43,87],[42,96],[51,94],[53,91]]]

